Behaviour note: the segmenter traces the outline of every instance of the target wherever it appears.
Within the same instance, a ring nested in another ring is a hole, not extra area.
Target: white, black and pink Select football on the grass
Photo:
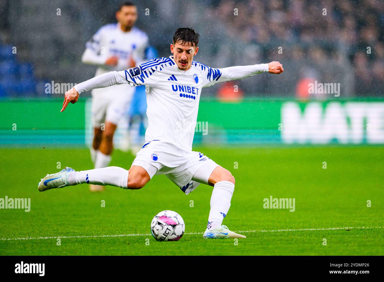
[[[151,222],[151,233],[157,241],[178,241],[184,231],[184,220],[175,211],[161,211]]]

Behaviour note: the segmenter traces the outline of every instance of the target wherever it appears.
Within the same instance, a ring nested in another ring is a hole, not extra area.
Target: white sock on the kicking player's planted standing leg
[[[208,217],[208,229],[222,224],[231,206],[233,191],[235,191],[235,184],[230,181],[220,181],[214,185],[210,201],[211,210]]]

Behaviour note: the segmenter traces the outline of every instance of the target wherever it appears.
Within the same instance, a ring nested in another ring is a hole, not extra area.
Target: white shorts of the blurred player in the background
[[[105,122],[118,124],[127,114],[134,88],[128,84],[118,84],[92,90],[92,125],[101,127]]]

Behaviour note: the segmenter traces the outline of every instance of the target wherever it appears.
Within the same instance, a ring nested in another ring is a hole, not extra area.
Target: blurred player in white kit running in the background
[[[81,60],[96,64],[96,76],[109,71],[133,68],[145,61],[148,36],[134,27],[137,8],[123,2],[116,12],[118,23],[102,26],[86,44]],[[134,88],[128,84],[92,90],[92,125],[94,137],[91,158],[94,168],[108,167],[113,150],[113,135],[119,120],[129,110]],[[89,185],[91,191],[102,191],[102,185]]]

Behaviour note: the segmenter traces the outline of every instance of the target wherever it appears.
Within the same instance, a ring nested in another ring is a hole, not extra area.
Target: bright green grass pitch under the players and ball
[[[91,168],[89,151],[3,148],[0,198],[31,198],[31,211],[0,209],[0,255],[384,255],[383,147],[194,150],[235,176],[223,223],[247,231],[247,239],[203,239],[210,186],[184,195],[159,175],[136,191],[107,186],[104,193],[90,193],[84,184],[38,192],[38,181],[57,172],[57,162]],[[111,165],[128,169],[133,159],[115,151]],[[295,212],[264,209],[270,196],[295,198]],[[149,235],[152,217],[164,209],[184,218],[180,241],[157,242]]]

